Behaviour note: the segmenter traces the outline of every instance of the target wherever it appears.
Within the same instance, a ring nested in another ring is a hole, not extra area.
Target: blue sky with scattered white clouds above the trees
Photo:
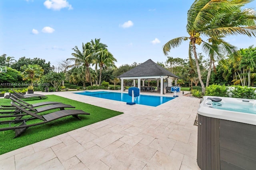
[[[72,58],[72,48],[99,39],[117,59],[116,66],[165,62],[162,46],[188,36],[187,11],[194,0],[0,0],[0,55],[50,61]],[[256,1],[247,8],[256,8]],[[240,48],[256,46],[255,37],[230,36]],[[186,41],[168,56],[188,58]],[[198,47],[198,52],[201,47]],[[206,56],[207,57],[207,56]]]

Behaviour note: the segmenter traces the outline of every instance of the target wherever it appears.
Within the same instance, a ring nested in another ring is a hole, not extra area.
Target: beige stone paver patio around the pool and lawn
[[[0,169],[200,169],[194,126],[200,99],[179,93],[174,100],[150,107],[73,92],[40,94],[56,94],[124,114],[2,154]]]

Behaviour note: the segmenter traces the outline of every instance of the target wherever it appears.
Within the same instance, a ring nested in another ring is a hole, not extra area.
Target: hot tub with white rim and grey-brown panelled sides
[[[218,98],[221,101],[214,102]],[[202,170],[255,170],[256,100],[204,96],[197,146]]]

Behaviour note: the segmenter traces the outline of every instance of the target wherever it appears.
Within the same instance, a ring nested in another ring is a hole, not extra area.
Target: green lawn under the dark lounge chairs
[[[12,150],[42,141],[44,139],[48,139],[57,135],[60,135],[62,133],[66,133],[68,131],[72,131],[74,129],[78,129],[80,127],[84,127],[86,125],[90,125],[92,123],[96,123],[98,121],[102,121],[104,119],[108,119],[110,117],[114,117],[116,115],[122,114],[122,112],[119,111],[113,111],[110,109],[105,109],[98,106],[93,106],[90,104],[85,104],[82,102],[77,102],[75,100],[70,100],[67,98],[62,98],[60,96],[56,95],[47,95],[47,99],[42,100],[26,100],[28,103],[38,103],[38,102],[46,102],[46,101],[57,101],[62,102],[64,104],[70,104],[72,106],[75,106],[75,109],[81,109],[84,110],[90,115],[80,115],[81,121],[78,119],[68,116],[63,117],[61,119],[34,126],[29,127],[24,133],[22,133],[19,137],[14,138],[15,132],[13,130],[9,131],[0,131],[0,155],[4,154],[6,152],[10,152]],[[0,99],[1,105],[10,105],[10,99]],[[86,101],[85,101],[86,102]],[[46,111],[44,113],[41,113],[40,115],[47,114],[53,111],[58,111],[59,109],[54,109],[51,111]],[[3,110],[0,110],[3,111]],[[4,120],[6,118],[0,118],[0,121]],[[8,118],[10,119],[10,118]],[[30,120],[31,121],[31,120]],[[32,120],[35,122],[40,122],[40,120]],[[30,124],[27,122],[27,124]],[[1,127],[6,127],[6,124],[0,125]]]

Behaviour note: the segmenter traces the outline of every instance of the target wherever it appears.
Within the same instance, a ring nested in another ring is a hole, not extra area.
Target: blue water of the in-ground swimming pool
[[[82,94],[86,96],[92,96],[96,98],[104,98],[110,100],[117,100],[122,102],[132,102],[132,97],[127,93],[116,93],[116,92],[78,92],[76,94]],[[148,96],[148,95],[140,95],[137,97],[134,102],[136,104],[142,104],[147,106],[159,106],[165,102],[168,102],[174,98],[172,97],[163,97],[163,96]]]

